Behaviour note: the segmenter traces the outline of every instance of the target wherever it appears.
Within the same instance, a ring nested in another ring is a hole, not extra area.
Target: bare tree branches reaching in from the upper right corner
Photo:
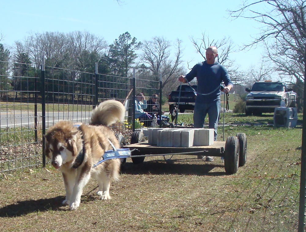
[[[252,19],[262,25],[261,33],[245,48],[263,42],[267,57],[277,71],[296,80],[304,80],[306,21],[305,0],[260,0],[244,3],[230,11],[234,18]]]

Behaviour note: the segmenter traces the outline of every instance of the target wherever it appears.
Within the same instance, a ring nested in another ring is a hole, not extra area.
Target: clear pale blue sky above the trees
[[[230,36],[236,45],[231,59],[241,70],[259,66],[259,46],[240,51],[243,44],[260,33],[256,22],[247,19],[233,20],[227,10],[237,10],[242,0],[3,0],[0,14],[1,43],[13,46],[29,32],[88,31],[103,37],[112,44],[119,35],[129,32],[137,42],[154,36],[164,37],[173,43],[182,40],[183,61],[187,68],[203,61],[196,53],[190,38],[221,40]]]

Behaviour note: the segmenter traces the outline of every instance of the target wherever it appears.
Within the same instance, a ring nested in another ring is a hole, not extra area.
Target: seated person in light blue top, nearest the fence
[[[144,123],[144,126],[150,127],[152,123],[152,116],[145,112],[147,108],[147,101],[143,93],[137,93],[135,96],[135,119],[139,119],[140,122]]]

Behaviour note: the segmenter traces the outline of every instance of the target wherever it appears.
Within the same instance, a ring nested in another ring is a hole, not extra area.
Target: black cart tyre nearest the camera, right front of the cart
[[[239,162],[239,140],[236,136],[226,139],[224,150],[224,167],[227,174],[237,173]]]

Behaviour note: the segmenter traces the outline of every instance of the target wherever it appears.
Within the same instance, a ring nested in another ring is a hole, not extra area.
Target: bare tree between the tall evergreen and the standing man
[[[175,54],[171,57],[171,48],[175,48]],[[142,51],[140,61],[143,63],[141,68],[149,70],[151,79],[159,81],[162,74],[162,88],[171,89],[177,85],[177,77],[185,74],[182,66],[181,40],[176,41],[174,45],[163,37],[153,37],[152,40],[145,40],[140,48]],[[167,91],[165,91],[167,92]]]

